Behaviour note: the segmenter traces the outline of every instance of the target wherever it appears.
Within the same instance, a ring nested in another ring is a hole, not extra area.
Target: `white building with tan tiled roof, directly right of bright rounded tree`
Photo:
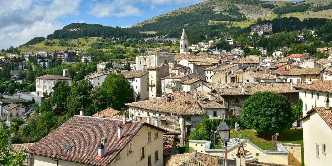
[[[147,70],[133,70],[124,73],[124,77],[130,82],[135,97],[137,97],[136,101],[146,100],[149,97],[148,73]]]

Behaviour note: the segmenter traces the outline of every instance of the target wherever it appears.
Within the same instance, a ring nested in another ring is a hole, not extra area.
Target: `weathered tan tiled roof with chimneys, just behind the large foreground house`
[[[164,133],[164,135],[180,135],[180,123],[179,118],[177,116],[158,116],[159,119],[159,127],[165,129],[169,132]],[[150,117],[150,124],[155,125],[156,117]],[[137,121],[139,122],[147,122],[147,117],[137,117]],[[162,124],[163,121],[165,124]],[[174,122],[175,122],[175,129],[174,129]]]

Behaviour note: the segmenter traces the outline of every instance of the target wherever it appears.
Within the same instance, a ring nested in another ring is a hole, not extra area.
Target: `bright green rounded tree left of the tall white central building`
[[[108,75],[102,84],[102,92],[105,98],[109,98],[111,106],[116,109],[120,109],[124,103],[133,101],[133,98],[130,98],[133,96],[131,85],[122,74]]]

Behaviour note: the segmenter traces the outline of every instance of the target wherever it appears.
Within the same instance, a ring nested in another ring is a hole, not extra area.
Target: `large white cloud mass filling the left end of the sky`
[[[56,21],[77,14],[81,0],[0,1],[0,46],[21,45],[34,37],[46,37],[63,25]],[[65,4],[65,5],[64,5]]]

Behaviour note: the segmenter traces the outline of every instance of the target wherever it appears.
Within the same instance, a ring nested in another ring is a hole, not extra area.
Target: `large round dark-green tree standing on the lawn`
[[[257,92],[242,105],[242,119],[257,132],[281,131],[294,122],[291,104],[285,96],[272,92]]]

